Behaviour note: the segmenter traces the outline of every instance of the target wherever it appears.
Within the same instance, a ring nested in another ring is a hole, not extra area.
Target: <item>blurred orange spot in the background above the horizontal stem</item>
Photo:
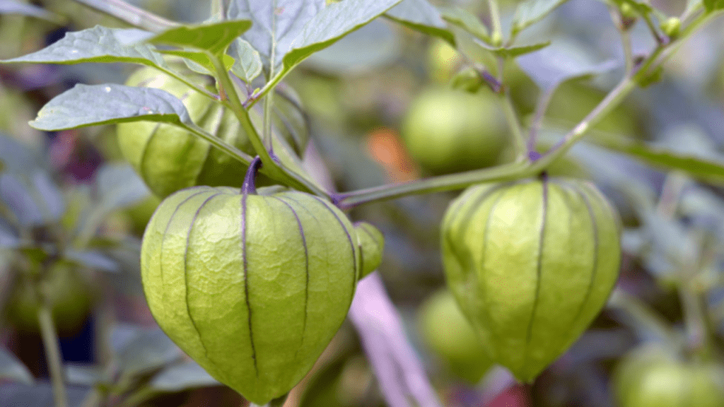
[[[367,151],[384,169],[392,182],[416,180],[419,177],[413,159],[405,150],[395,130],[379,127],[367,138]]]

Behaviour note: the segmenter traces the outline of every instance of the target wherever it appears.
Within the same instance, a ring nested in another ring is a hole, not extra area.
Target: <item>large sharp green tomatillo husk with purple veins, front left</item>
[[[354,227],[300,192],[188,188],[146,228],[141,273],[161,329],[211,376],[262,405],[311,369],[361,276]]]

